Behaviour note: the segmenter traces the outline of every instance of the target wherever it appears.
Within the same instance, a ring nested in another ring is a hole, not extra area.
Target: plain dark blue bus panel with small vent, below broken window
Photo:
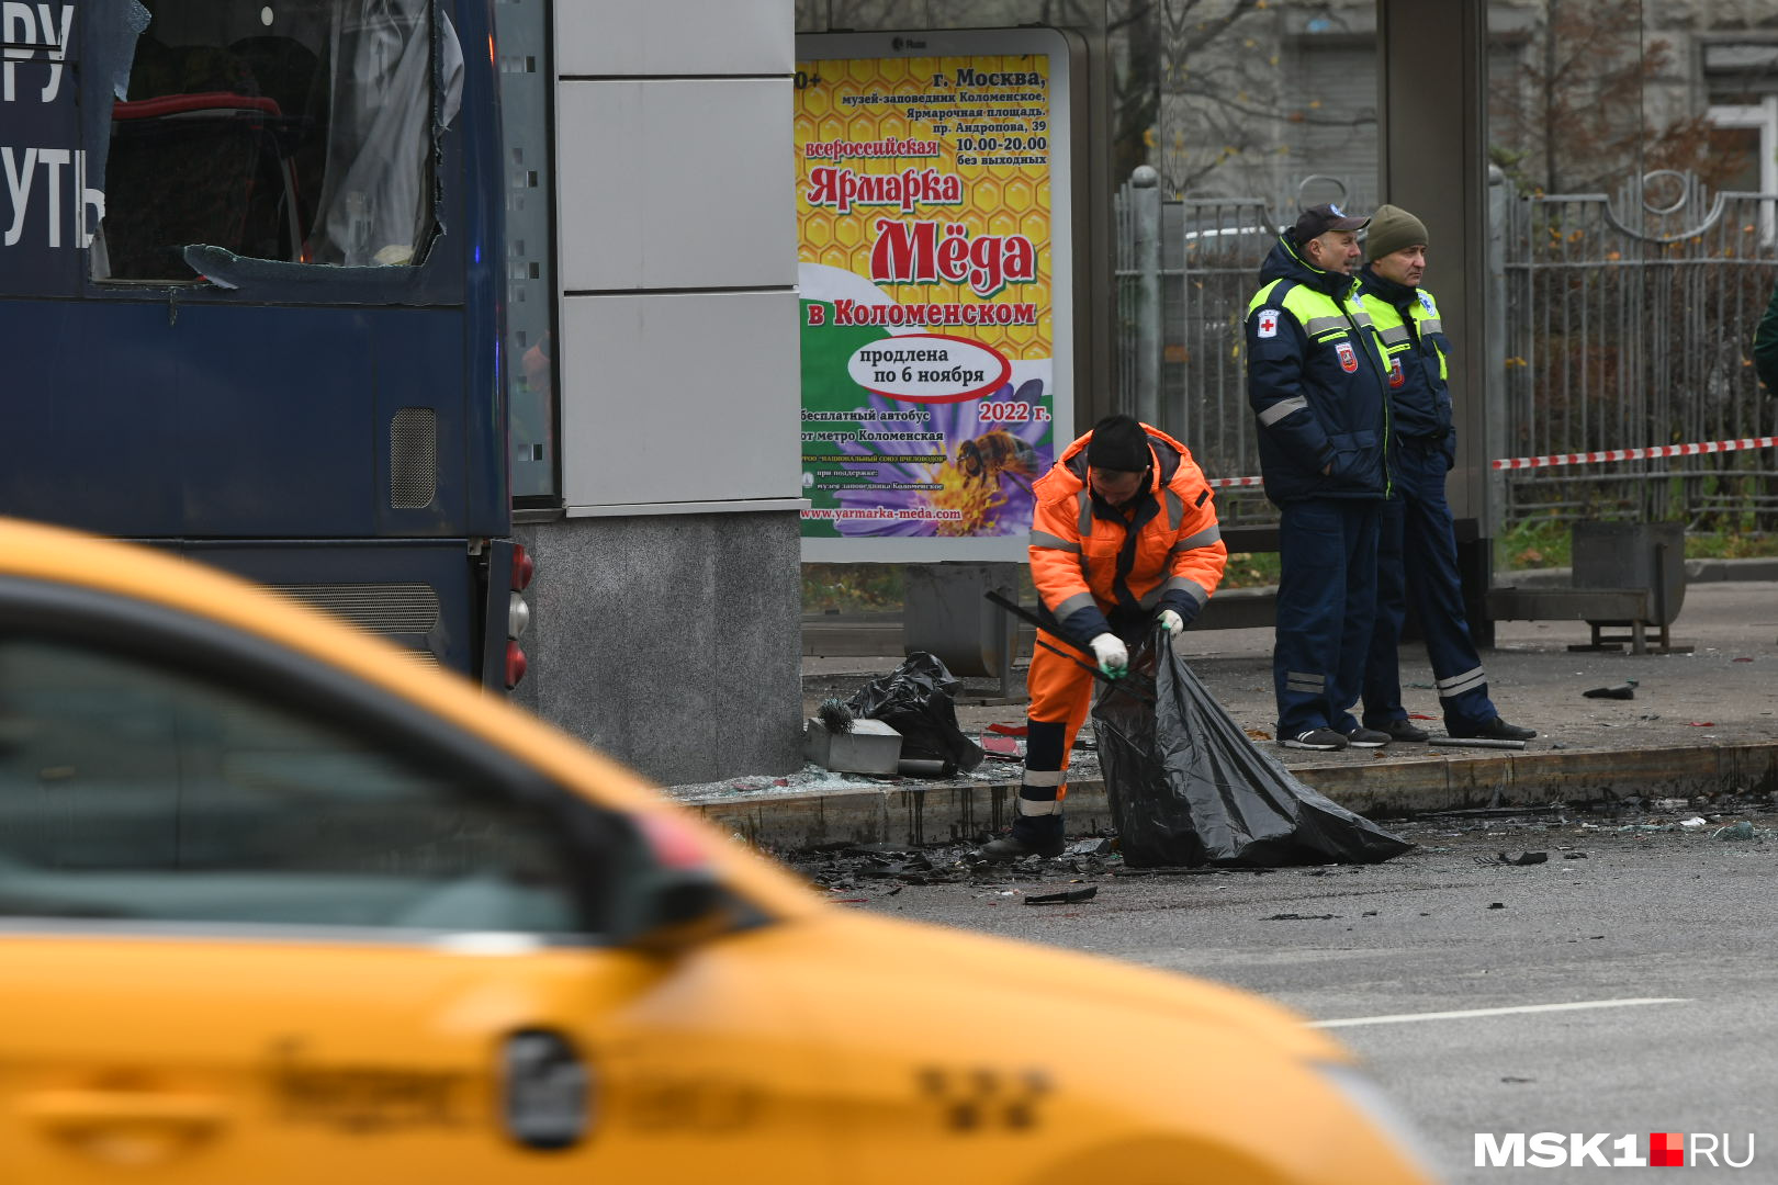
[[[4,513],[139,538],[503,526],[468,506],[459,309],[20,300],[0,322],[25,396],[0,412]]]

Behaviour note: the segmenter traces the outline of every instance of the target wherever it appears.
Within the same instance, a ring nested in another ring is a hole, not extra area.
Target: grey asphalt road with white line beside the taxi
[[[1744,808],[1430,819],[1396,824],[1421,847],[1385,865],[1262,874],[1117,876],[1115,860],[1085,860],[1051,863],[1040,879],[983,876],[953,863],[960,851],[932,853],[932,874],[900,878],[884,876],[882,856],[862,872],[859,856],[800,867],[853,908],[1204,975],[1317,1023],[1360,1022],[1337,1036],[1417,1121],[1449,1181],[1533,1173],[1474,1167],[1479,1132],[1636,1133],[1641,1151],[1652,1132],[1710,1132],[1726,1135],[1735,1160],[1751,1133],[1751,1167],[1703,1173],[1778,1180],[1778,833],[1716,835],[1778,819]],[[1620,831],[1693,815],[1710,823]],[[1549,858],[1499,862],[1526,851]],[[960,879],[909,883],[944,878]],[[1095,885],[1097,897],[1024,906],[1028,892],[1070,883]],[[1588,1007],[1510,1011],[1558,1004]],[[1508,1011],[1435,1016],[1474,1009]]]

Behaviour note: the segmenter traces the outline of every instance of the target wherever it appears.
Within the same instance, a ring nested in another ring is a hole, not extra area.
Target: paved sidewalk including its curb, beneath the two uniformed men
[[[1762,572],[1764,574],[1764,572]],[[1303,782],[1364,812],[1451,810],[1579,801],[1604,796],[1694,798],[1778,791],[1778,585],[1693,583],[1673,625],[1691,654],[1588,654],[1584,622],[1501,622],[1483,654],[1506,720],[1540,732],[1524,752],[1383,750],[1307,753],[1271,743],[1271,631],[1186,632],[1181,650],[1229,714]],[[846,696],[893,670],[900,656],[804,659],[805,707]],[[1410,712],[1437,716],[1424,650],[1403,648]],[[1588,688],[1636,680],[1634,700],[1590,700]],[[1022,723],[1012,704],[958,707],[976,736],[994,721]],[[1440,734],[1437,720],[1419,721]],[[1090,732],[1090,728],[1088,728]],[[1109,824],[1090,753],[1076,753],[1070,831]],[[1085,759],[1085,760],[1083,760]],[[887,780],[807,769],[786,778],[731,778],[674,794],[711,821],[773,849],[859,842],[973,839],[1010,821],[1017,762],[983,762],[971,776]]]

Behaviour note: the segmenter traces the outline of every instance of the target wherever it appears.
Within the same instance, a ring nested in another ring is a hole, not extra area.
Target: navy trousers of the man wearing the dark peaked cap
[[[1312,728],[1351,732],[1376,622],[1380,499],[1285,503],[1278,522],[1278,634],[1271,680],[1278,739]]]

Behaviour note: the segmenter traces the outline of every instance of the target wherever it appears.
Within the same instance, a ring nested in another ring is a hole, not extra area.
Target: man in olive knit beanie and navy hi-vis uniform
[[[1451,421],[1451,343],[1438,302],[1421,288],[1426,224],[1399,206],[1371,215],[1358,291],[1390,361],[1390,485],[1378,538],[1376,631],[1364,668],[1364,725],[1394,741],[1424,741],[1401,707],[1398,648],[1406,602],[1414,602],[1453,737],[1529,741],[1534,728],[1501,720],[1488,675],[1463,615],[1456,533],[1446,503],[1446,473],[1456,458]],[[1414,556],[1412,563],[1405,556]]]

